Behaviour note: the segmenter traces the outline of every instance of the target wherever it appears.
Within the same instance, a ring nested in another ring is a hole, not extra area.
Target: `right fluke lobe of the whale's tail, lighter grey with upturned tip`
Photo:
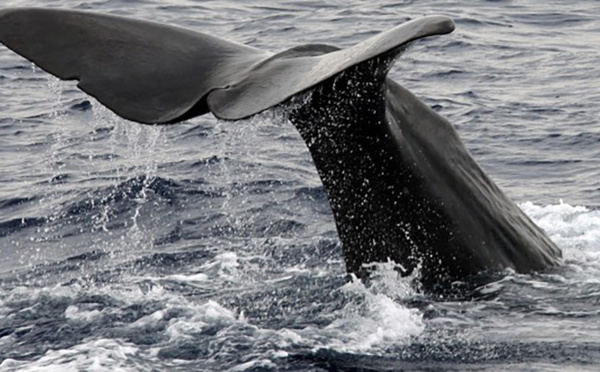
[[[385,54],[397,56],[414,40],[453,30],[454,22],[450,18],[429,16],[403,23],[348,49],[323,53],[320,47],[306,45],[300,50],[285,51],[257,64],[230,87],[209,94],[208,105],[221,119],[243,119],[317,86],[350,67]],[[306,55],[311,50],[314,54]]]

